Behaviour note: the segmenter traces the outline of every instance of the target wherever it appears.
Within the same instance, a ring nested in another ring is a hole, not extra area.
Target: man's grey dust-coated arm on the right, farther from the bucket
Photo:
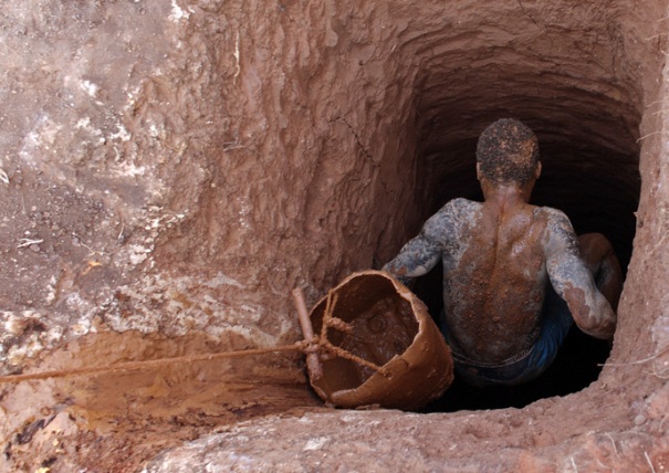
[[[567,303],[574,322],[586,334],[608,339],[616,329],[616,314],[597,291],[578,254],[578,240],[567,217],[551,209],[545,242],[546,270],[553,287]]]

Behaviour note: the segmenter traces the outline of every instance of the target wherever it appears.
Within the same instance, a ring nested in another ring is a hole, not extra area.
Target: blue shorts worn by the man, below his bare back
[[[449,343],[448,328],[442,317],[441,332],[451,346],[458,375],[469,385],[478,387],[515,386],[537,378],[555,360],[557,350],[574,322],[566,302],[557,295],[550,283],[542,312],[544,318],[532,348],[521,357],[496,366],[478,365],[452,349],[453,344]]]

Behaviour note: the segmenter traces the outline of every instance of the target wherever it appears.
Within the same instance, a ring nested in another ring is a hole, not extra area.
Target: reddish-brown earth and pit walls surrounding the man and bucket
[[[4,383],[0,464],[669,469],[667,2],[377,3],[8,7],[3,372],[295,341],[290,290],[314,304],[480,199],[508,116],[540,140],[533,202],[616,249],[613,348],[574,330],[532,386],[426,412],[324,409],[295,354]]]

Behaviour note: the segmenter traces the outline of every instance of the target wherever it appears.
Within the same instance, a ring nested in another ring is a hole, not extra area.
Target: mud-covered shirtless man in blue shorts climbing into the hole
[[[474,386],[536,378],[572,322],[603,339],[616,327],[621,272],[611,245],[598,233],[578,239],[560,210],[531,206],[540,174],[534,133],[495,122],[477,146],[484,202],[448,202],[384,266],[407,283],[442,261],[441,329],[457,372]]]

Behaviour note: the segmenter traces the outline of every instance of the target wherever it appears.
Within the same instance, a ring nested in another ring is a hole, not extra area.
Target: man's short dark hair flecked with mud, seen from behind
[[[513,118],[502,118],[483,130],[477,145],[483,177],[495,182],[526,183],[539,162],[534,132]]]

